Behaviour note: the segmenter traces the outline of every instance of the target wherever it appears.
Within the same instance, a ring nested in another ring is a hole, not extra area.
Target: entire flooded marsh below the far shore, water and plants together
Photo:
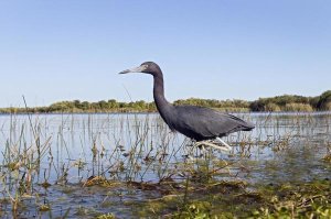
[[[238,113],[231,152],[157,113],[0,116],[2,218],[331,217],[331,112]]]

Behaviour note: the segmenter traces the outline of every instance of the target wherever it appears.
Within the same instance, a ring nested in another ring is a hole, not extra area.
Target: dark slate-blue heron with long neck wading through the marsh
[[[237,131],[250,131],[255,127],[237,117],[196,106],[173,106],[164,97],[163,75],[153,62],[142,63],[139,67],[122,70],[119,74],[146,73],[153,76],[154,102],[164,122],[171,131],[179,131],[196,141],[195,145],[206,145],[229,151],[231,147],[221,138]],[[223,144],[220,146],[215,141]]]

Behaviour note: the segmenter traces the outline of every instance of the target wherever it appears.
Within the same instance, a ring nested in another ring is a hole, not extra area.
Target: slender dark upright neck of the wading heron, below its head
[[[154,76],[154,88],[153,88],[153,96],[157,108],[164,119],[167,114],[167,110],[172,106],[167,101],[164,97],[164,86],[163,86],[163,76],[162,74],[158,74]]]

